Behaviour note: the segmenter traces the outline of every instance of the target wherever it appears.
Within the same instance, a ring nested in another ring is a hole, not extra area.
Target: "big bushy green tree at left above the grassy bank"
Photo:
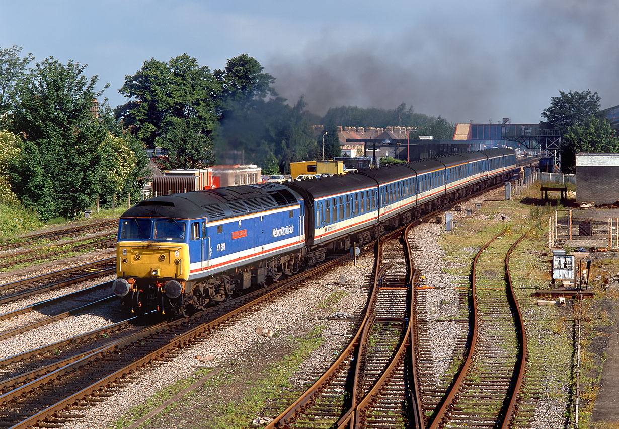
[[[85,67],[48,58],[17,85],[9,124],[25,137],[11,184],[41,220],[77,217],[98,191],[98,148],[107,131],[91,109],[103,90],[95,90],[98,76],[84,76]]]

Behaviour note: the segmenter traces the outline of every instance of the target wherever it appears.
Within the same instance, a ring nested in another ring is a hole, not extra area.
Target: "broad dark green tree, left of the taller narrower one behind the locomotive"
[[[167,150],[167,167],[212,163],[220,87],[209,67],[199,66],[188,54],[168,63],[150,59],[134,76],[125,77],[119,92],[131,100],[116,109],[116,118],[147,147]]]

